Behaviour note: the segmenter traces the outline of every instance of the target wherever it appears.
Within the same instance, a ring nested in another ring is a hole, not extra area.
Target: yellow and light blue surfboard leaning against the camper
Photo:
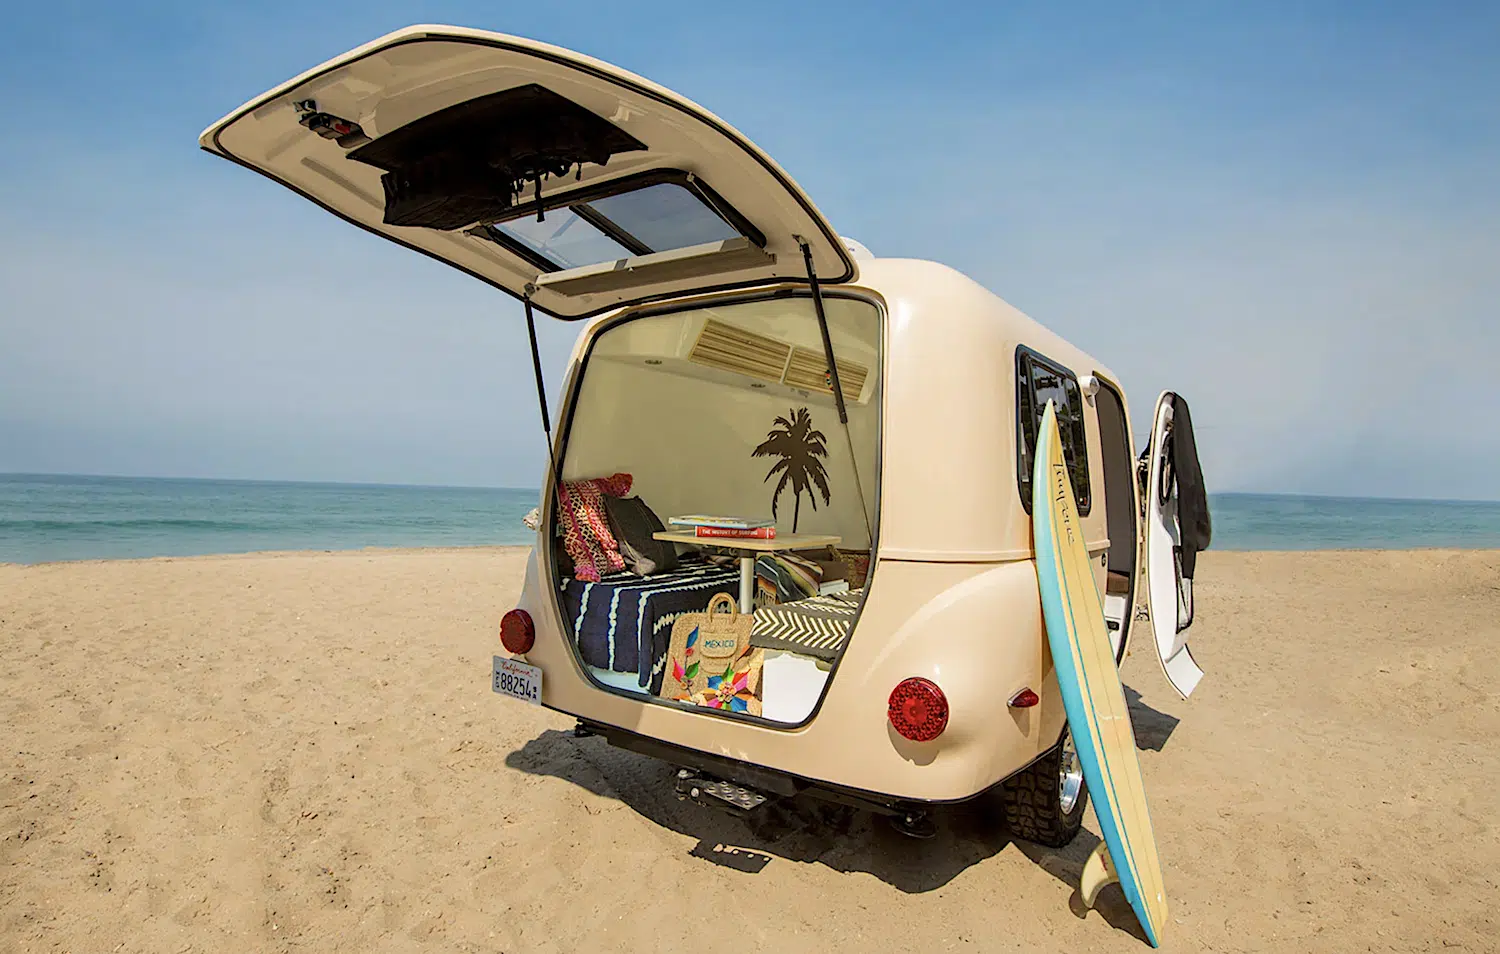
[[[1062,456],[1058,412],[1050,400],[1036,435],[1032,537],[1058,687],[1104,836],[1083,866],[1078,892],[1092,908],[1104,885],[1119,882],[1146,939],[1161,946],[1167,894],[1136,758],[1136,732]]]

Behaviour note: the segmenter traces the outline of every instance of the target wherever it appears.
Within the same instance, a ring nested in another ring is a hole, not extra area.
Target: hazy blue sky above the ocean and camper
[[[195,142],[453,22],[696,99],[1107,362],[1137,428],[1180,392],[1210,490],[1500,498],[1500,6],[684,9],[8,10],[0,471],[534,486],[519,308]]]

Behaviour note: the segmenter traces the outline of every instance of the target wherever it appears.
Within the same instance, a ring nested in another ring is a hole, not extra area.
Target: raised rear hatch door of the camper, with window
[[[759,147],[627,70],[501,33],[408,27],[200,136],[392,242],[560,318],[698,291],[854,280]]]

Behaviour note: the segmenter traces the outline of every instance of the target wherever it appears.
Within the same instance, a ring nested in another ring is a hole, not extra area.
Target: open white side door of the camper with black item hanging
[[[1197,554],[1209,544],[1210,528],[1192,418],[1186,400],[1173,392],[1156,399],[1143,464],[1146,558],[1137,572],[1146,580],[1142,586],[1137,578],[1137,591],[1144,592],[1161,669],[1186,699],[1203,678],[1188,651],[1186,632],[1192,626]]]

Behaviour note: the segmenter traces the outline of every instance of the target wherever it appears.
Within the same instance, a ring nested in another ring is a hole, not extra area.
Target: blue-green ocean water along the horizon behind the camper
[[[0,474],[0,562],[530,544],[537,490]],[[1500,502],[1224,494],[1215,550],[1500,548]]]

